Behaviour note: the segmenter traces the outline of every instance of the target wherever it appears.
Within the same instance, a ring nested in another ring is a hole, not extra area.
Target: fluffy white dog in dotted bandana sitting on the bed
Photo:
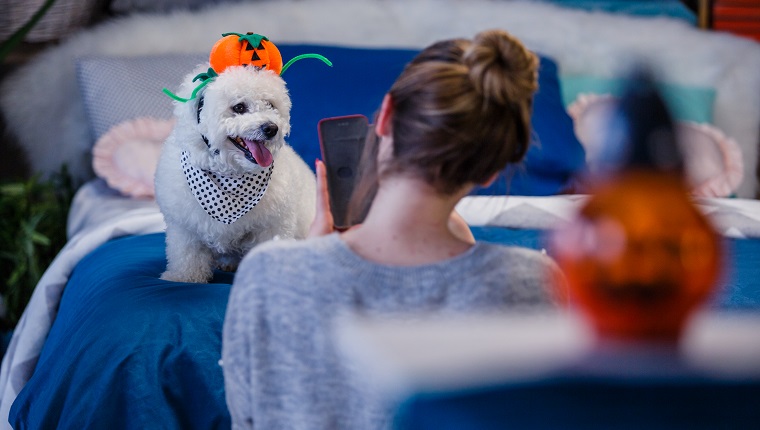
[[[180,94],[198,86],[187,75]],[[166,220],[161,279],[208,282],[257,243],[301,238],[314,218],[315,177],[285,143],[290,97],[274,72],[230,67],[186,103],[156,170]]]

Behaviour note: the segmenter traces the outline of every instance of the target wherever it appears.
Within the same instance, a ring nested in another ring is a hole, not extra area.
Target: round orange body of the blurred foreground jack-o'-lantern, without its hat
[[[629,172],[556,232],[570,303],[604,338],[676,341],[714,291],[721,246],[680,178]]]

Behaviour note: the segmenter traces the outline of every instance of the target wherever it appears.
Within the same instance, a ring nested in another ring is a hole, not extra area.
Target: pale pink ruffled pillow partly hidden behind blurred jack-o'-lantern
[[[567,108],[592,172],[598,166],[605,127],[616,103],[617,98],[608,94],[581,94]],[[676,126],[693,194],[700,197],[732,195],[744,175],[742,153],[736,141],[709,124],[678,121]]]

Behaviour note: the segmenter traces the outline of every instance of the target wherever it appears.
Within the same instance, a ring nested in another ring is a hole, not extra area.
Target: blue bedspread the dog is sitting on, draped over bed
[[[539,230],[473,231],[490,242],[544,243]],[[760,241],[727,246],[730,287],[715,306],[760,308]],[[11,409],[15,428],[229,428],[219,359],[232,274],[183,284],[158,279],[165,266],[162,233],[116,239],[81,260]]]

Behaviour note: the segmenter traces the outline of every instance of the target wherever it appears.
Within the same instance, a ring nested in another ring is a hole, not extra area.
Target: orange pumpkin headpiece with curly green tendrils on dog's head
[[[228,67],[252,66],[261,70],[271,70],[282,76],[291,64],[304,58],[316,58],[328,66],[332,66],[330,60],[319,54],[297,55],[283,65],[280,50],[266,36],[256,33],[224,33],[222,38],[211,48],[209,55],[211,67],[208,71],[199,73],[193,78],[193,82],[200,80],[201,83],[195,87],[189,98],[179,97],[166,88],[163,89],[163,92],[172,99],[185,103],[194,99],[201,88],[213,82],[214,78],[227,70]]]

